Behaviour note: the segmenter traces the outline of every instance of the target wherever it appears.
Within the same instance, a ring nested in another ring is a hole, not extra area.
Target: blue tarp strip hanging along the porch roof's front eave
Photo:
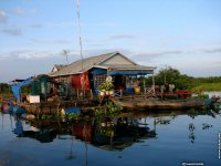
[[[108,75],[146,75],[152,74],[154,71],[146,70],[122,70],[122,71],[109,71]]]

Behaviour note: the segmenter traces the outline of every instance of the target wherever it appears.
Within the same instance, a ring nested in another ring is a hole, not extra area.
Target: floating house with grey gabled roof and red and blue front
[[[119,52],[102,54],[75,61],[69,65],[54,66],[49,74],[59,82],[66,82],[73,89],[93,90],[97,93],[102,83],[109,77],[115,90],[138,86],[138,76],[154,74],[154,66],[135,63]]]

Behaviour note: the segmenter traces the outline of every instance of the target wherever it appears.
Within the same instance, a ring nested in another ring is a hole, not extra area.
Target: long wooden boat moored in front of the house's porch
[[[206,106],[204,100],[186,98],[186,100],[160,100],[160,98],[133,98],[133,97],[110,97],[110,100],[124,108],[148,108],[148,110],[187,110],[192,107]]]

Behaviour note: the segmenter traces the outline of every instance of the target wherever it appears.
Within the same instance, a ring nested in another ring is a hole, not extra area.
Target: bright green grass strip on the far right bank
[[[221,91],[221,82],[220,83],[202,83],[192,87],[192,90],[200,91]]]

